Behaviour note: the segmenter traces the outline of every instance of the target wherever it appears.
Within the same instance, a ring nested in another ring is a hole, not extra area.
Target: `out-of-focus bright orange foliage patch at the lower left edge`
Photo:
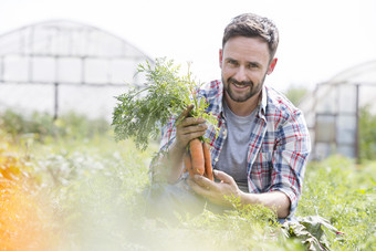
[[[31,163],[11,149],[0,132],[1,250],[51,250],[51,210],[41,203]]]

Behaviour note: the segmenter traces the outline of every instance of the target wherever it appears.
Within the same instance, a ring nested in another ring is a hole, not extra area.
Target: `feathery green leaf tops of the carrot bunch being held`
[[[154,66],[148,62],[140,64],[138,72],[146,74],[145,87],[129,86],[128,92],[116,97],[112,124],[117,140],[134,137],[136,147],[145,149],[150,138],[159,136],[160,126],[190,104],[195,105],[191,116],[216,125],[216,118],[205,113],[206,100],[197,96],[200,85],[191,77],[189,67],[187,75],[179,76],[179,66],[174,61],[157,59]]]

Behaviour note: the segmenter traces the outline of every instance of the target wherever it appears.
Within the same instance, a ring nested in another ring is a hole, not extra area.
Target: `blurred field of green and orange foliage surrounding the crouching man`
[[[273,223],[271,210],[238,207],[175,212],[171,224],[145,216],[156,144],[138,151],[115,143],[105,122],[74,114],[53,122],[8,111],[0,126],[0,250],[375,249],[375,161],[311,163],[300,223]]]

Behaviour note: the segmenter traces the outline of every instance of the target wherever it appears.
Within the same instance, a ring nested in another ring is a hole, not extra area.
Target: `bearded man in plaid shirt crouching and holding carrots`
[[[182,190],[191,189],[219,207],[230,206],[227,196],[234,196],[242,205],[264,205],[281,219],[293,215],[311,146],[302,113],[264,85],[278,61],[278,29],[267,18],[247,13],[227,25],[219,51],[222,81],[199,92],[210,104],[208,112],[218,117],[219,136],[202,118],[187,117],[176,127],[174,121],[166,126],[161,149],[167,154],[154,174],[174,184],[171,190],[188,184]],[[186,147],[199,136],[210,140],[217,181],[182,175]]]

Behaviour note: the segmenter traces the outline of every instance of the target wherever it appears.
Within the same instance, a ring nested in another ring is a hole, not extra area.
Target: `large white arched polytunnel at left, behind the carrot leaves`
[[[137,65],[153,60],[125,40],[71,21],[48,21],[0,35],[0,109],[73,111],[111,118]]]

